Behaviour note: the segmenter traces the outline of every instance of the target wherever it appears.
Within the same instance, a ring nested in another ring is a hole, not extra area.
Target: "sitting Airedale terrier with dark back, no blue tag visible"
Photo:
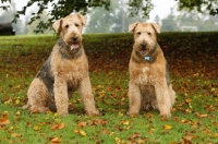
[[[28,101],[23,108],[46,112],[57,110],[69,115],[69,98],[80,89],[87,115],[98,115],[88,75],[88,61],[82,45],[82,28],[86,16],[78,13],[56,21],[52,27],[60,33],[51,55],[27,91]]]

